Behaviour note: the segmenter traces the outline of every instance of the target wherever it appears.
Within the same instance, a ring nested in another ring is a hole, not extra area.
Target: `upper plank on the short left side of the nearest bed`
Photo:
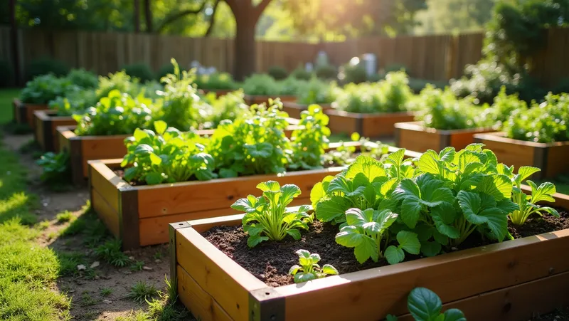
[[[267,285],[221,253],[193,228],[176,230],[178,263],[233,320],[249,320],[249,291]]]

